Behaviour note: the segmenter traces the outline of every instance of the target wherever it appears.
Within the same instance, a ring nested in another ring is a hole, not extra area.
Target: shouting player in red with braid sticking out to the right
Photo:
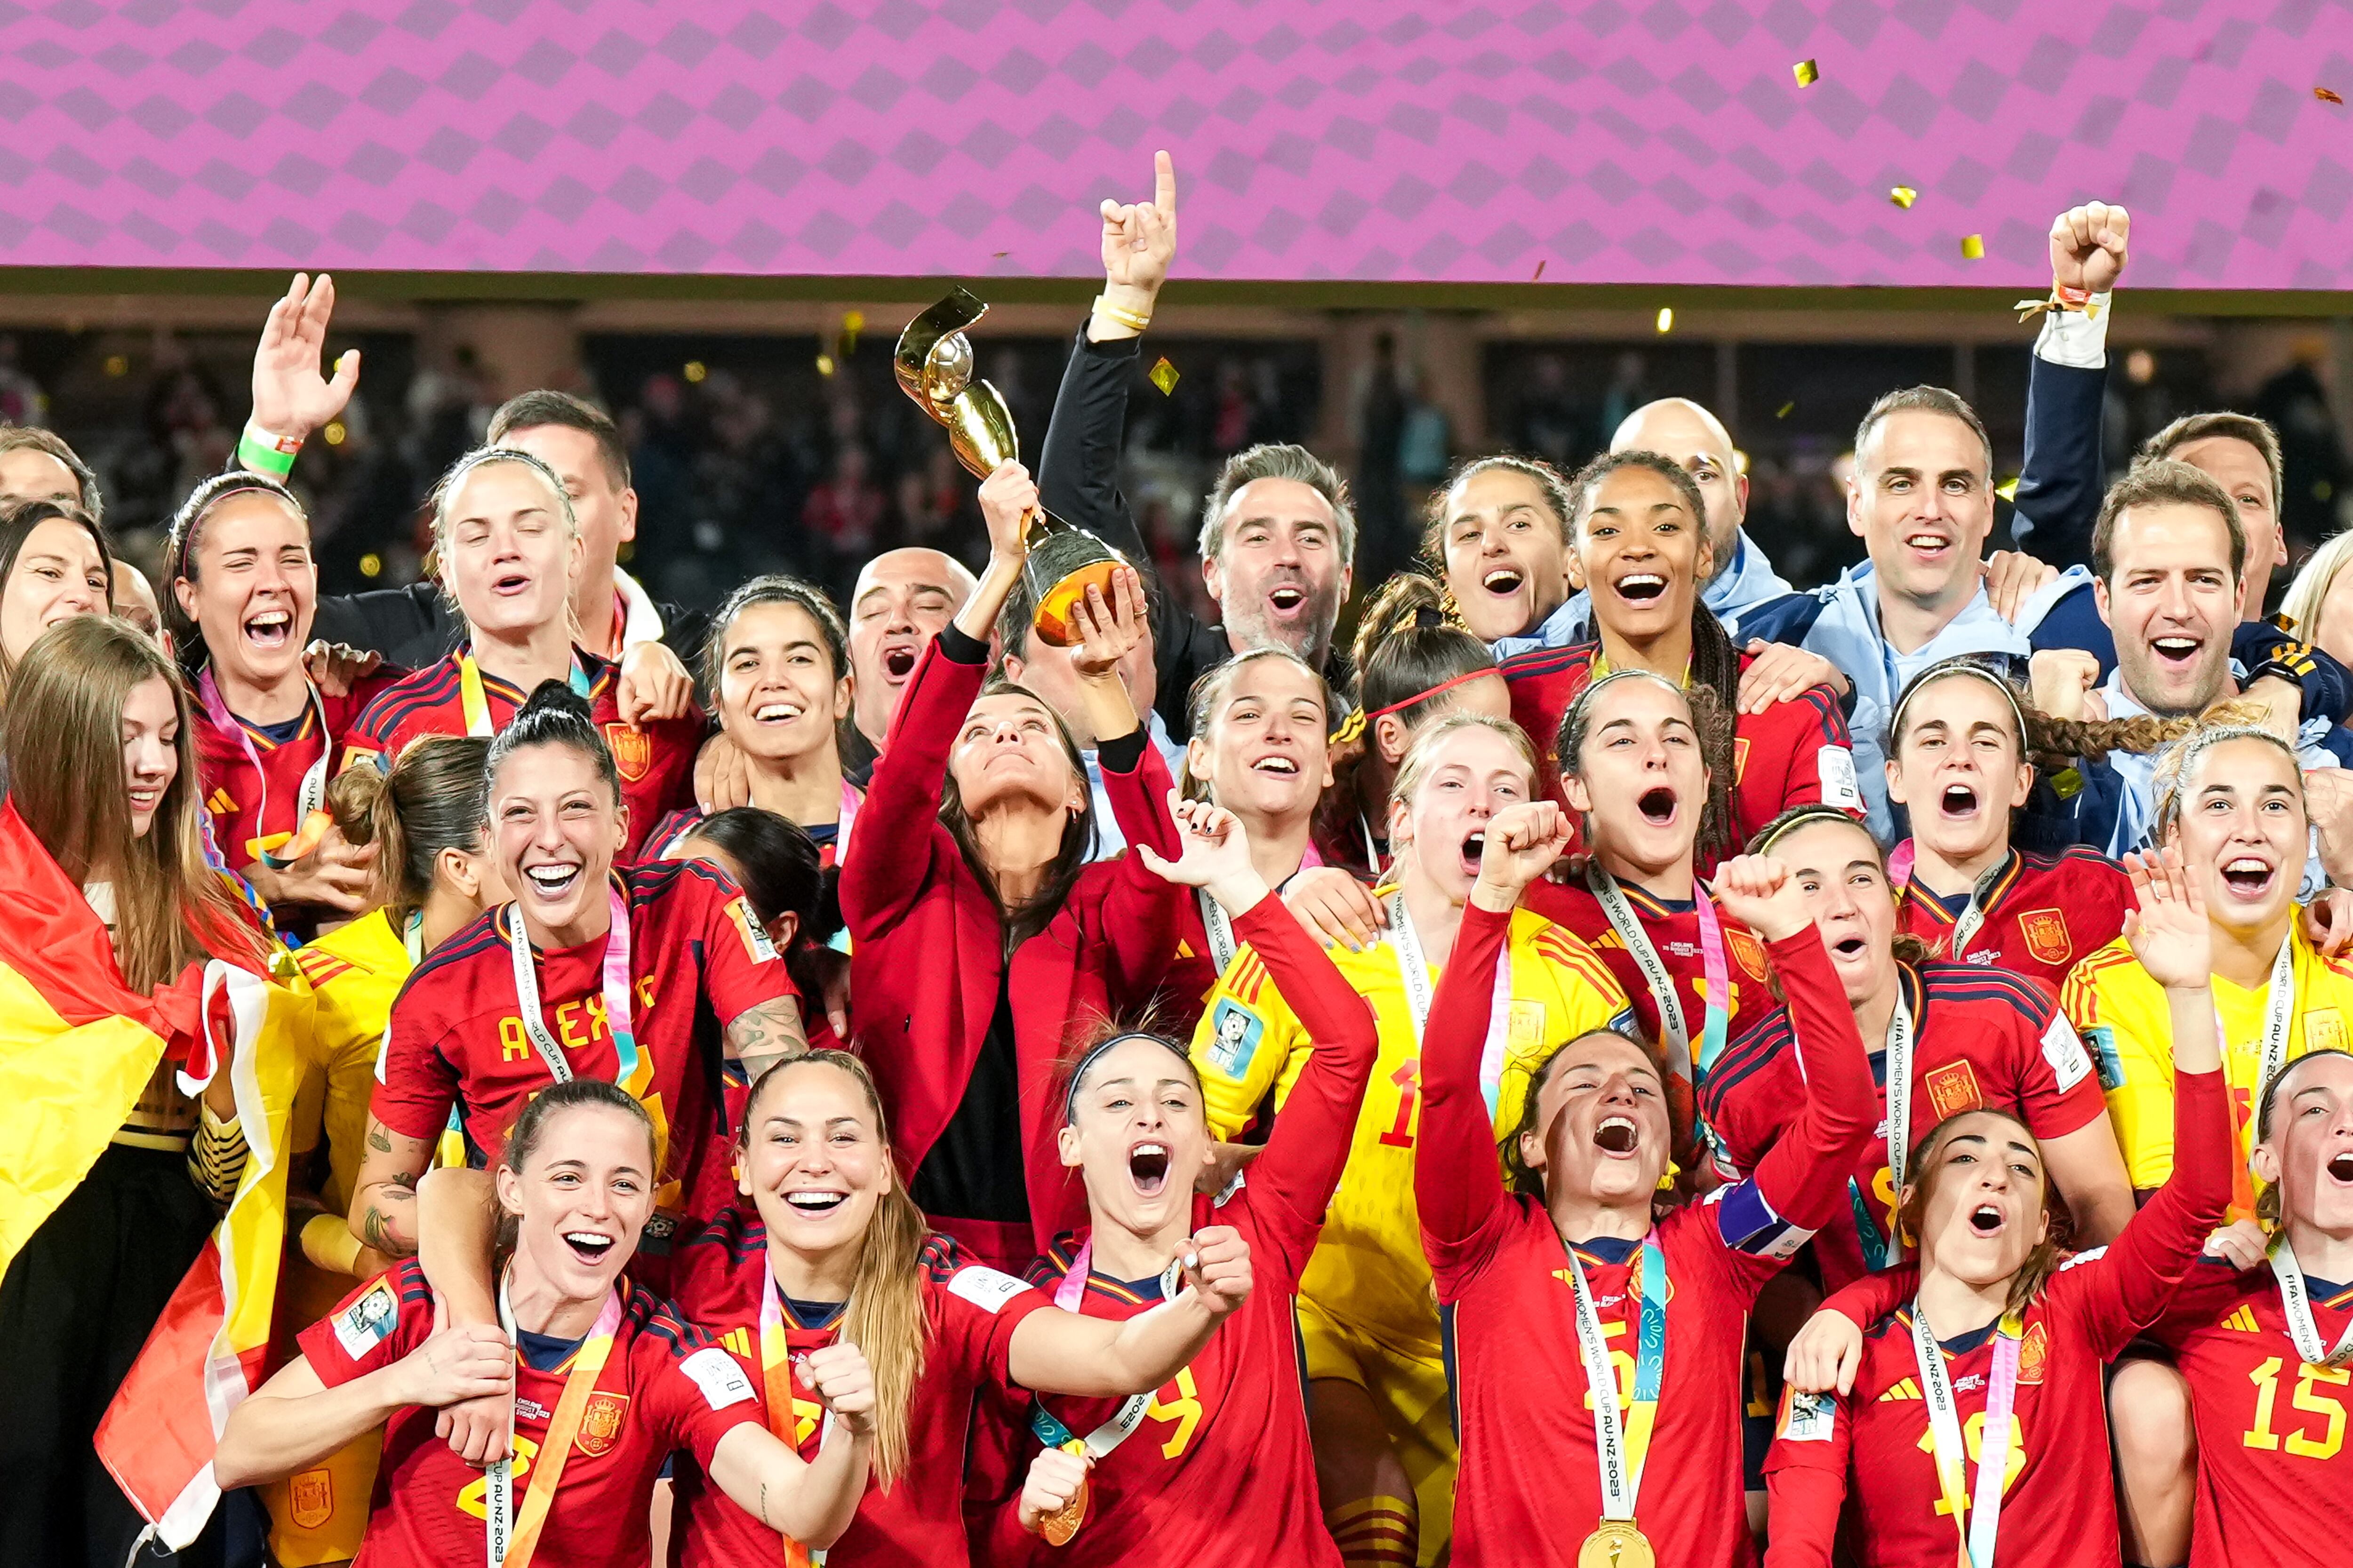
[[[2064,743],[2061,729],[1967,654],[1915,675],[1887,726],[1887,799],[1913,830],[1889,856],[1901,884],[1897,929],[1939,959],[2007,969],[2052,990],[2125,931],[2132,907],[2132,879],[2097,849],[2012,846],[2012,816],[2035,783],[2028,757]],[[2082,741],[2092,726],[2071,729],[2066,738]]]

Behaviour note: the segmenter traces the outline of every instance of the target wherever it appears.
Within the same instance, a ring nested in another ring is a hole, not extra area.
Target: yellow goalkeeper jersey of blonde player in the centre
[[[1381,1056],[1355,1119],[1348,1168],[1322,1239],[1299,1281],[1301,1295],[1395,1349],[1438,1354],[1438,1305],[1421,1255],[1414,1206],[1414,1135],[1421,1124],[1421,1044],[1407,1004],[1398,950],[1332,950],[1348,985],[1372,1004]],[[1633,1034],[1626,992],[1577,936],[1518,910],[1506,950],[1511,990],[1489,1041],[1489,1112],[1499,1138],[1518,1126],[1529,1072],[1560,1044],[1588,1030]],[[1431,971],[1431,990],[1438,971]],[[1266,964],[1245,943],[1219,976],[1193,1034],[1209,1110],[1209,1135],[1233,1138],[1273,1095],[1280,1110],[1315,1041],[1275,990]]]

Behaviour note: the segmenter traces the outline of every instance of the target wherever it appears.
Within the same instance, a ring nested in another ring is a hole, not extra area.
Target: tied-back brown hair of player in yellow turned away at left
[[[327,811],[353,844],[376,846],[369,898],[398,926],[433,893],[445,849],[482,849],[489,827],[489,773],[482,736],[426,736],[400,752],[391,773],[344,769],[327,785]]]

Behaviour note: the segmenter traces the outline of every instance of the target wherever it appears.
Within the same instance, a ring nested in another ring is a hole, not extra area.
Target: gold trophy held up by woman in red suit
[[[944,301],[906,324],[892,367],[899,371],[899,388],[915,400],[915,407],[948,428],[955,458],[986,480],[1021,454],[1021,442],[1014,437],[1014,416],[1005,397],[972,376],[972,339],[965,329],[984,315],[988,306],[972,292],[951,289]],[[1071,614],[1085,602],[1087,588],[1101,588],[1108,602],[1111,574],[1125,567],[1127,557],[1042,505],[1024,520],[1024,534],[1028,559],[1021,564],[1021,583],[1038,607],[1038,635],[1066,649],[1078,642]]]

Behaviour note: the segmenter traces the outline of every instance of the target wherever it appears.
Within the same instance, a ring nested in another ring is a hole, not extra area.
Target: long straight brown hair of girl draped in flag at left
[[[160,679],[179,710],[179,771],[144,837],[132,837],[122,771],[122,705]],[[75,616],[33,642],[7,701],[9,802],[75,884],[115,884],[115,966],[139,992],[172,983],[212,954],[259,959],[219,875],[205,863],[188,686],[144,632],[111,616]]]

